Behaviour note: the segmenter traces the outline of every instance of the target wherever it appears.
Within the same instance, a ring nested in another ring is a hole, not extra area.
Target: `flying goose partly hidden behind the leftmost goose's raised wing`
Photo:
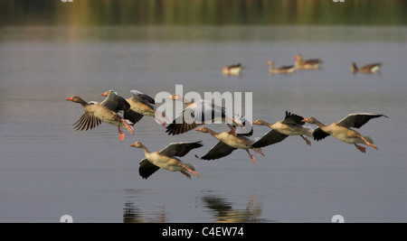
[[[156,101],[154,98],[147,96],[141,91],[138,91],[136,89],[132,89],[131,94],[133,95],[132,97],[128,97],[126,100],[128,101],[128,104],[130,104],[130,109],[133,110],[135,113],[139,113],[143,116],[154,116],[156,117],[156,122],[159,123],[160,125],[163,125],[166,127],[165,121],[162,119],[166,119],[166,117],[162,114],[156,111]],[[131,114],[131,113],[129,113]],[[127,117],[125,113],[125,117]]]

